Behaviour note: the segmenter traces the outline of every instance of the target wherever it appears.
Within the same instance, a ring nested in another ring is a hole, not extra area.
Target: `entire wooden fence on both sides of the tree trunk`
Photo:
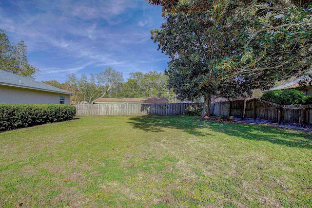
[[[245,118],[256,118],[279,121],[283,123],[312,124],[312,105],[277,105],[259,99],[246,100],[245,110],[244,100],[230,102],[217,102],[211,105],[211,113],[219,116],[241,117],[245,112]],[[203,107],[203,103],[146,103],[146,104],[88,104],[75,105],[77,116],[97,116],[97,115],[182,115],[186,110],[193,110]],[[231,107],[231,109],[230,109]],[[255,110],[254,110],[255,107]],[[278,115],[278,108],[281,110]],[[302,114],[303,113],[303,114]]]

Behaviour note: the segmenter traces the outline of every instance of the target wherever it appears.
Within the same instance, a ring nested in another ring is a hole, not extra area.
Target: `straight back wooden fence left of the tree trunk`
[[[202,108],[202,103],[117,103],[74,105],[77,116],[95,115],[182,115],[186,110]]]

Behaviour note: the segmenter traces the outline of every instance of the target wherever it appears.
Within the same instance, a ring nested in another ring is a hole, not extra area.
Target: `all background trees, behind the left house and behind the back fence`
[[[0,69],[20,76],[33,78],[39,71],[28,63],[27,46],[21,40],[17,44],[10,42],[4,30],[0,29]],[[130,73],[124,82],[121,72],[111,67],[90,76],[69,74],[66,81],[42,81],[76,95],[70,97],[71,104],[94,103],[102,97],[167,97],[176,102],[173,90],[168,90],[168,76],[156,71],[143,74]]]

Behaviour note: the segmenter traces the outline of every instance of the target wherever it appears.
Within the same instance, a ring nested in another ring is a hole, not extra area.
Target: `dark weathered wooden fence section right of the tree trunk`
[[[312,105],[278,105],[260,99],[214,103],[211,113],[277,123],[312,124]]]

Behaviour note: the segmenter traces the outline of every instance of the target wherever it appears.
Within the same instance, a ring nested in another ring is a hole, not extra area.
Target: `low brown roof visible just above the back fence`
[[[157,102],[169,102],[167,97],[122,97],[122,98],[99,98],[95,103],[99,102],[140,102],[140,103],[157,103]]]

